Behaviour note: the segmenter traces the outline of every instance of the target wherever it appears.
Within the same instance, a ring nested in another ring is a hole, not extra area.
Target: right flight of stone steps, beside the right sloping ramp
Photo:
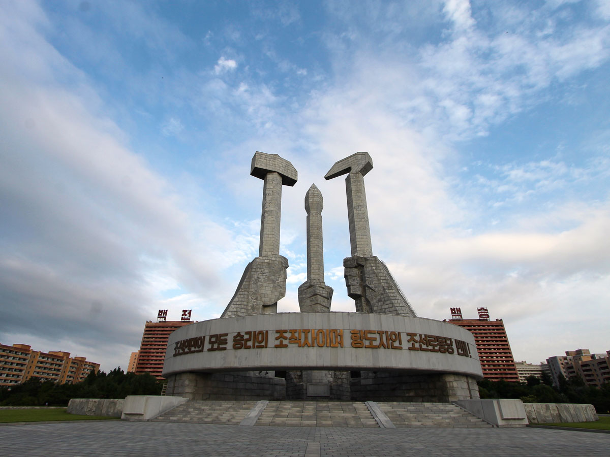
[[[396,428],[493,427],[452,403],[377,402]]]

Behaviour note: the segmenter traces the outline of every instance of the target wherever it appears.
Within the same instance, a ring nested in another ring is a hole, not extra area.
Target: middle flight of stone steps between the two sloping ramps
[[[362,402],[269,402],[256,425],[379,427]]]

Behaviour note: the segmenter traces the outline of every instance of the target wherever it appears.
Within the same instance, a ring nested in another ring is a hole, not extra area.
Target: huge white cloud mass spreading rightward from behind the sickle
[[[545,24],[548,34],[540,37],[542,12],[521,9],[510,12],[517,25],[517,17],[530,16],[521,29],[507,34],[496,24],[498,32],[484,32],[467,2],[447,3],[445,13],[467,33],[424,46],[419,59],[372,54],[366,46],[342,48],[333,37],[337,83],[315,94],[303,129],[322,151],[316,163],[328,163],[321,174],[340,158],[370,152],[375,168],[365,184],[373,253],[388,262],[418,315],[444,319],[450,306],[473,313],[489,306],[493,317],[504,318],[509,335],[519,328],[515,356],[544,360],[561,353],[545,352],[553,346],[548,342],[544,349],[534,343],[550,310],[567,316],[578,303],[589,316],[608,315],[600,310],[610,281],[607,196],[592,203],[577,191],[601,183],[608,166],[599,157],[573,165],[551,151],[550,157],[488,169],[491,178],[479,177],[472,193],[462,195],[450,172],[456,160],[451,143],[489,133],[490,126],[544,100],[552,83],[606,62],[608,30],[587,24],[559,36]],[[398,49],[387,41],[388,49]],[[326,230],[346,225],[344,185],[331,180],[318,187],[325,196],[325,246],[345,257],[346,229]],[[544,199],[545,205],[514,204],[501,223],[489,221],[494,228],[470,225],[489,218],[487,193],[503,194],[503,202]],[[327,281],[342,277],[343,267],[326,272]],[[344,297],[344,286],[337,286],[334,302],[348,303]],[[604,344],[602,334],[590,345]]]

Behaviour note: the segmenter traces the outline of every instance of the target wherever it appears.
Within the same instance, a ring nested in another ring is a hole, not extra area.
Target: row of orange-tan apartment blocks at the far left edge
[[[30,378],[73,384],[84,381],[99,363],[85,357],[70,357],[70,352],[32,350],[27,344],[0,344],[0,386],[21,384]]]

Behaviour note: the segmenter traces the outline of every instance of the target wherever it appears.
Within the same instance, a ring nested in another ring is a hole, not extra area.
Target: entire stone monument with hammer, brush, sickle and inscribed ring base
[[[321,211],[312,185],[307,211],[307,280],[300,313],[278,313],[287,260],[279,255],[282,185],[292,164],[256,152],[250,173],[264,179],[259,257],[246,266],[219,319],[171,333],[163,376],[167,395],[193,400],[351,399],[450,402],[477,399],[483,378],[475,340],[447,322],[417,317],[386,264],[373,255],[364,175],[367,152],[335,163],[325,179],[345,179],[351,257],[343,260],[356,313],[329,312]]]

